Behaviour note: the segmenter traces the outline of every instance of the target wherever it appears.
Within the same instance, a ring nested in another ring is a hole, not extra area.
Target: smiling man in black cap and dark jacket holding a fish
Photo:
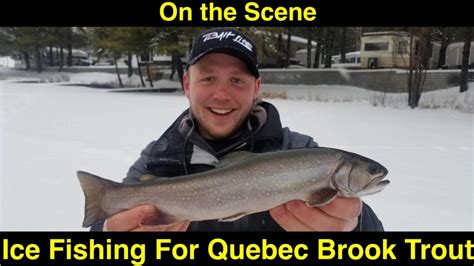
[[[190,108],[151,142],[130,168],[124,182],[143,174],[163,178],[213,169],[219,159],[237,150],[255,153],[318,147],[309,136],[282,128],[276,108],[258,100],[261,79],[255,44],[233,29],[200,34],[184,75]],[[351,231],[383,230],[381,222],[360,199],[336,198],[309,208],[291,201],[235,222],[183,221],[156,226],[154,206],[142,205],[109,217],[92,230],[107,231]]]

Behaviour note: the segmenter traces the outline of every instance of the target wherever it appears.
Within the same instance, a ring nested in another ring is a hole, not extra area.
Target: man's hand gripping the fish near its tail
[[[160,215],[152,205],[140,205],[107,218],[104,231],[186,231],[189,221],[171,225],[150,225]]]

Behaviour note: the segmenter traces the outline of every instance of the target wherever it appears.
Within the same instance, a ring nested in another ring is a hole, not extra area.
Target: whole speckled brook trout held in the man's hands
[[[209,171],[177,177],[145,174],[124,184],[78,171],[85,196],[83,227],[142,204],[159,211],[156,225],[180,221],[231,222],[291,200],[309,207],[335,197],[362,197],[390,181],[380,163],[344,150],[303,148],[230,153]]]

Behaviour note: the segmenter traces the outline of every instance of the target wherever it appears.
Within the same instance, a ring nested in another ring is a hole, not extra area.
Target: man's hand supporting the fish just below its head
[[[352,231],[361,211],[359,198],[335,198],[314,208],[293,200],[271,209],[270,215],[286,231]]]

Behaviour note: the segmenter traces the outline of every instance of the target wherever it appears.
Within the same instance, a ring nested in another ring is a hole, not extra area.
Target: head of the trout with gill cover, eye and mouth
[[[389,183],[384,179],[387,168],[380,163],[354,153],[341,157],[333,182],[345,197],[361,197],[383,190]]]

